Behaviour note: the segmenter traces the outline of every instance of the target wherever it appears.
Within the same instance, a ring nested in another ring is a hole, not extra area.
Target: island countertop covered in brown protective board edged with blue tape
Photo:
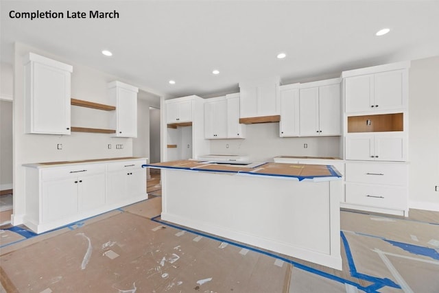
[[[254,164],[253,164],[254,165]],[[260,163],[256,167],[243,164],[224,164],[211,161],[178,160],[142,165],[159,169],[181,169],[191,171],[230,173],[247,176],[276,176],[297,180],[335,180],[340,173],[329,165],[305,165],[293,163]]]

